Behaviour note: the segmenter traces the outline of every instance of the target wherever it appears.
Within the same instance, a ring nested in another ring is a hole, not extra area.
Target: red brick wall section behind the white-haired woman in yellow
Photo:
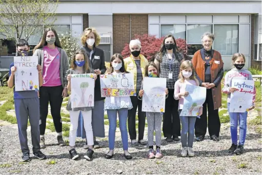
[[[131,26],[131,27],[130,27]],[[148,33],[148,14],[113,14],[113,53],[121,53],[135,34]]]

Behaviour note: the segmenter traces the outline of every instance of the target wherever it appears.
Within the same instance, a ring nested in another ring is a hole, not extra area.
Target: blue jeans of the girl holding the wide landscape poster
[[[113,150],[115,147],[115,130],[116,130],[116,118],[118,111],[119,128],[122,137],[123,149],[128,150],[128,135],[127,135],[127,116],[128,109],[107,109],[107,115],[109,120],[109,149]]]

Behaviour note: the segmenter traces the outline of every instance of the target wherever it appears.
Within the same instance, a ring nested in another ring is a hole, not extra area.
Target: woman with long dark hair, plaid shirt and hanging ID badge
[[[167,142],[179,141],[180,119],[178,114],[178,100],[173,98],[174,85],[178,80],[180,64],[184,61],[179,52],[175,38],[169,34],[165,36],[160,50],[155,56],[154,63],[160,71],[160,77],[167,79],[168,98],[166,99],[163,120],[163,132]],[[173,138],[172,138],[173,137]]]

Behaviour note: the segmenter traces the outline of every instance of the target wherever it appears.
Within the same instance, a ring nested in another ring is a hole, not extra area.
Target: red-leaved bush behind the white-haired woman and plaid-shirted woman
[[[151,60],[156,54],[156,52],[159,51],[164,40],[164,37],[156,38],[154,35],[149,35],[149,34],[135,35],[134,38],[138,39],[141,42],[142,45],[141,54],[143,54],[148,60]],[[186,40],[178,38],[175,41],[179,50],[184,55],[186,55],[188,52]],[[121,54],[124,57],[124,59],[130,56],[131,53],[129,49],[129,43],[125,44],[125,47],[121,52]]]

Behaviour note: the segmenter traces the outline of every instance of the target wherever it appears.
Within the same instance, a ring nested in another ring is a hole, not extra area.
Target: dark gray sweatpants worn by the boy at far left
[[[27,144],[27,122],[31,126],[31,138],[33,145],[33,152],[40,150],[40,133],[39,133],[39,98],[30,99],[14,99],[14,109],[18,125],[18,135],[23,153],[29,153]]]

